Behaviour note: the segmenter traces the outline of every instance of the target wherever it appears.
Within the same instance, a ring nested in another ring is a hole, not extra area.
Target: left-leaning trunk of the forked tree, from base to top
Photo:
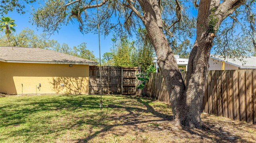
[[[176,124],[179,125],[179,118],[182,117],[180,111],[185,106],[184,93],[186,87],[178,69],[174,54],[172,53],[168,40],[164,35],[161,13],[160,10],[155,6],[158,4],[157,1],[145,2],[143,0],[139,0],[139,2],[142,9],[147,13],[142,21],[146,27],[150,41],[156,51],[158,58],[157,63],[166,82],[166,88],[169,93],[174,120],[176,121]]]

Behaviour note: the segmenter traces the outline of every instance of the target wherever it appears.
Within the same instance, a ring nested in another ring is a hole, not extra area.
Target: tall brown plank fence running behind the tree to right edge
[[[151,74],[140,94],[170,103],[160,73]],[[256,70],[208,71],[202,111],[256,124]]]

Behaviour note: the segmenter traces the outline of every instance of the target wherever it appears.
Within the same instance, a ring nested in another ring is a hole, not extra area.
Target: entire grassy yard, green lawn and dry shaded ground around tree
[[[138,96],[19,96],[0,101],[0,142],[256,142],[256,125],[202,114],[208,129],[172,125],[170,105]],[[10,106],[12,102],[12,106]]]

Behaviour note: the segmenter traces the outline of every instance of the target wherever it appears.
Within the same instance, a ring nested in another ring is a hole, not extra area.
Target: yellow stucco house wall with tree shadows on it
[[[37,88],[41,84],[40,88]],[[23,84],[23,87],[22,87]],[[64,84],[64,86],[61,86]],[[0,92],[88,94],[89,65],[0,62]]]

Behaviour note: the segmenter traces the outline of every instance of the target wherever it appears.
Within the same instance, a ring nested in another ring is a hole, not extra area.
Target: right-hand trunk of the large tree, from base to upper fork
[[[184,126],[201,128],[203,125],[200,112],[211,47],[212,42],[196,41],[190,53],[186,77],[186,108],[180,111],[180,123]]]

